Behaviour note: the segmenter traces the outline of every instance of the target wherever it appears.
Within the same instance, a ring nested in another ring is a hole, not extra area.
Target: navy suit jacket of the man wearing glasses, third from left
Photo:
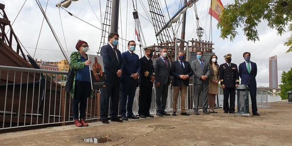
[[[139,56],[136,54],[130,54],[129,51],[122,53],[122,61],[124,64],[124,73],[121,76],[122,81],[132,81],[132,73],[140,74],[140,61]],[[137,79],[136,79],[137,80]]]

